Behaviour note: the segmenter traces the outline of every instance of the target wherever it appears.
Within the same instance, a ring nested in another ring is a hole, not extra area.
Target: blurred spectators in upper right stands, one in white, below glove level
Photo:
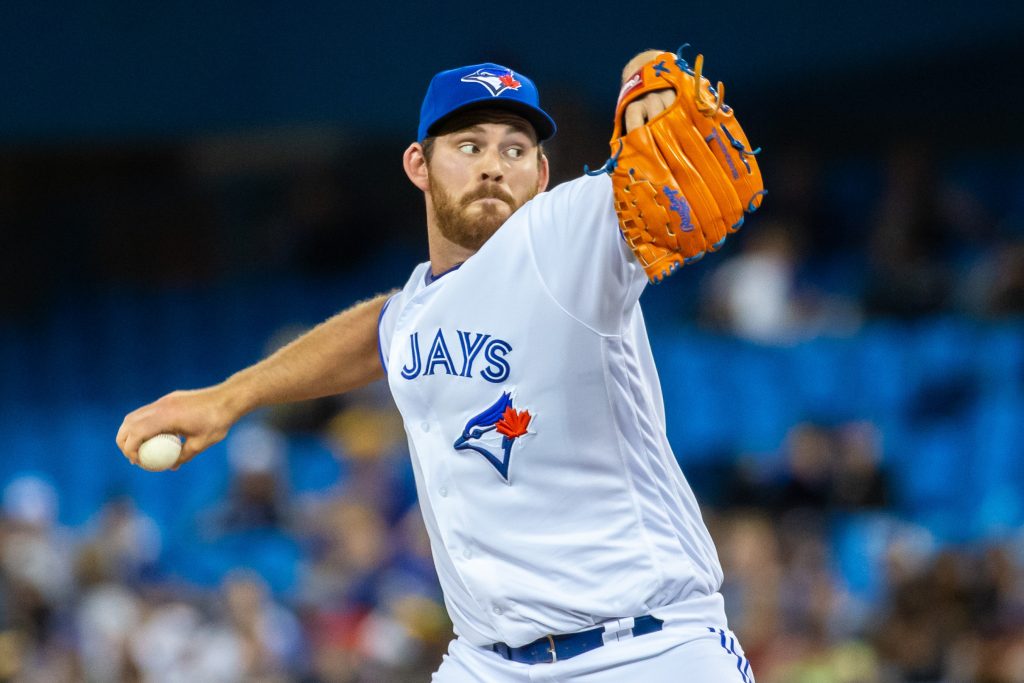
[[[742,234],[742,253],[706,279],[709,324],[792,343],[846,334],[865,318],[1024,315],[1024,180],[1015,166],[937,160],[904,142],[869,163],[826,165],[797,148],[771,170],[771,209]]]

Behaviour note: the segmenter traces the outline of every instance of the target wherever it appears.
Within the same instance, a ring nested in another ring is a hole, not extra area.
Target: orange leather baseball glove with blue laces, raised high
[[[685,45],[683,47],[686,47]],[[692,263],[739,229],[765,195],[761,171],[733,110],[680,53],[660,52],[626,81],[615,108],[611,175],[626,242],[651,282]],[[672,105],[623,134],[624,113],[648,92],[672,88]]]

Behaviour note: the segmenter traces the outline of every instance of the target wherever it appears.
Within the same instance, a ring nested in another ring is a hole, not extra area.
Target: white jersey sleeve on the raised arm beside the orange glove
[[[618,334],[647,276],[618,229],[611,178],[583,176],[528,205],[534,261],[550,295],[601,334]]]

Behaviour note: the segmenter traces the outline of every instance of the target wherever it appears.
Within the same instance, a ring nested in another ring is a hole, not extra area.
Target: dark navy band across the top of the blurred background
[[[737,101],[750,102],[756,128],[824,124],[821,106],[888,136],[896,132],[890,122],[931,128],[953,120],[939,110],[967,115],[961,123],[1019,116],[1022,35],[1024,7],[987,0],[635,9],[534,1],[5,3],[0,137],[165,138],[310,123],[411,137],[425,85],[440,69],[507,61],[549,98],[564,88],[602,108],[634,52],[684,41],[707,52],[709,71]],[[944,132],[949,143],[962,137]]]

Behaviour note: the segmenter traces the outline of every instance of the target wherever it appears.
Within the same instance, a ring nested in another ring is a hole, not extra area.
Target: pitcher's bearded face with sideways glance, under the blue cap
[[[547,184],[547,162],[520,126],[479,123],[435,138],[429,195],[445,239],[483,246],[516,209]]]

